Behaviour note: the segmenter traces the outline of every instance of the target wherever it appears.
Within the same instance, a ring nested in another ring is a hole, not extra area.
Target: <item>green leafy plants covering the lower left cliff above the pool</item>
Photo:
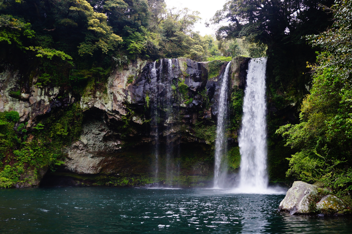
[[[10,120],[7,120],[7,116],[11,116]],[[33,126],[32,140],[25,141],[26,137],[23,140],[19,138],[27,133],[23,123],[17,128],[19,135],[14,131],[12,121],[19,120],[18,113],[0,113],[0,151],[5,161],[5,166],[0,171],[0,186],[11,187],[15,183],[23,182],[25,178],[22,176],[29,173],[29,167],[50,167],[54,170],[56,166],[62,165],[62,147],[80,136],[82,119],[79,103],[75,103]],[[13,163],[9,164],[10,162]]]

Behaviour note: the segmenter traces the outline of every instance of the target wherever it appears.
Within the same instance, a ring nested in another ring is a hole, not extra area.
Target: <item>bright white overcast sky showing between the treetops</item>
[[[196,25],[194,25],[194,31],[199,31],[202,36],[205,34],[215,34],[216,25],[210,25],[206,28],[204,22],[212,18],[216,11],[222,9],[226,0],[166,0],[167,8],[185,8],[192,11],[199,11],[200,17],[202,18]]]

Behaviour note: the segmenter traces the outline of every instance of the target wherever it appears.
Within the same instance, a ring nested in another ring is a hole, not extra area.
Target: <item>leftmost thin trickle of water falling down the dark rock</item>
[[[152,91],[152,107],[151,107],[151,132],[150,135],[154,136],[154,147],[153,153],[155,155],[155,177],[158,178],[158,168],[159,168],[159,131],[158,131],[158,82],[156,74],[156,61],[151,69],[151,91]]]

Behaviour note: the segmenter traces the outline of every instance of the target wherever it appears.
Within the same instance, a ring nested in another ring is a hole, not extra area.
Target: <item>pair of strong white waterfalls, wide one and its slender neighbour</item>
[[[228,72],[231,62],[226,66],[218,100],[218,125],[216,127],[214,188],[227,188],[226,171],[221,162],[226,155],[225,131],[228,124]],[[265,101],[266,58],[251,59],[247,70],[247,84],[243,100],[242,126],[238,138],[241,164],[239,193],[257,193],[268,185],[266,174],[266,101]],[[227,162],[224,162],[224,164]]]

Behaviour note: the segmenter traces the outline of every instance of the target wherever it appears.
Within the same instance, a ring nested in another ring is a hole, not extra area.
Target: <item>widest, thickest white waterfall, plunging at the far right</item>
[[[266,58],[249,61],[243,100],[242,127],[238,138],[241,154],[239,190],[257,193],[268,186],[266,173]]]

